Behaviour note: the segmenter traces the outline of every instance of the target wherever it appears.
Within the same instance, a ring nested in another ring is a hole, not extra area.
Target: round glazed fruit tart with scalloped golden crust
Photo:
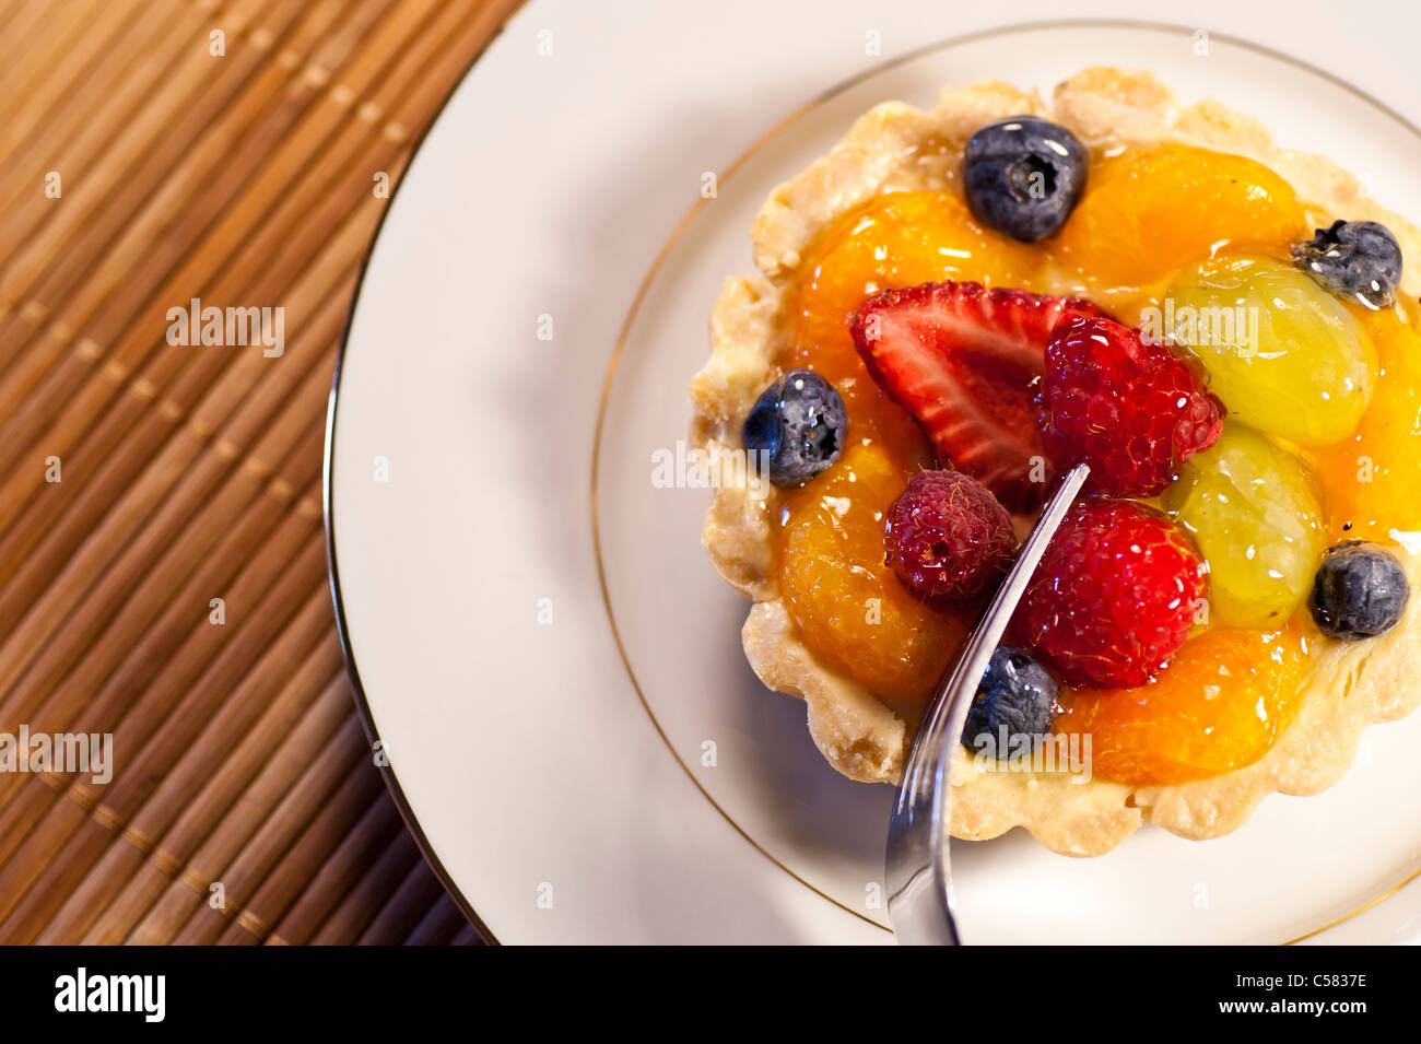
[[[901,777],[1080,462],[955,750],[955,837],[1216,837],[1421,700],[1421,233],[1336,165],[1090,68],[878,105],[752,240],[691,384],[703,544],[840,773]]]

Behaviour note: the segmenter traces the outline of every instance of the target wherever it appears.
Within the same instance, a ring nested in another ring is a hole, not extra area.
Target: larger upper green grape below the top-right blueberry
[[[1292,442],[1346,439],[1376,385],[1361,324],[1306,273],[1269,259],[1205,261],[1171,288],[1158,324],[1199,357],[1233,418]]]

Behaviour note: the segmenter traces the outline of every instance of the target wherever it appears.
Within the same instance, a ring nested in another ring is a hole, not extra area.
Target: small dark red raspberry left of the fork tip
[[[918,472],[888,509],[887,562],[924,601],[971,598],[1012,564],[1006,509],[962,472]]]

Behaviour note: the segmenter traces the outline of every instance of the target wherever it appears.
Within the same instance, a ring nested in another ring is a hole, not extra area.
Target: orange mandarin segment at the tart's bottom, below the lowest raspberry
[[[1150,685],[1061,696],[1054,730],[1090,737],[1097,778],[1168,787],[1242,768],[1297,710],[1307,659],[1302,628],[1205,631]]]

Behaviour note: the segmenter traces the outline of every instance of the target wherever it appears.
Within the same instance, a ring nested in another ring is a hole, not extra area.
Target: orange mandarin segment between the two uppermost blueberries
[[[1262,163],[1171,145],[1097,163],[1053,249],[1108,291],[1148,287],[1223,246],[1286,256],[1307,233],[1297,195]]]

